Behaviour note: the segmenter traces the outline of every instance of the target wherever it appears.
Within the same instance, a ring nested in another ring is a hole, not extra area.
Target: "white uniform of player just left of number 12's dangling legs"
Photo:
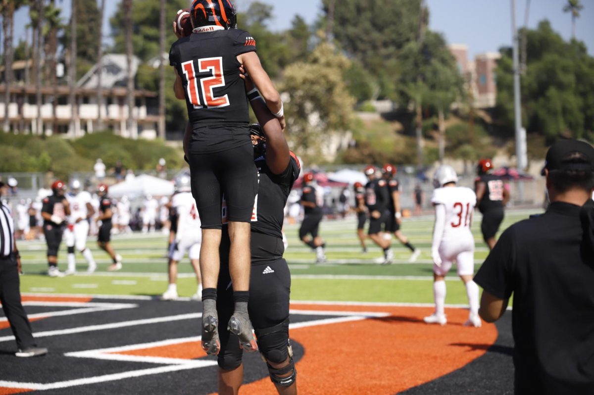
[[[179,192],[173,195],[171,205],[176,208],[179,217],[178,232],[175,234],[177,246],[171,258],[179,262],[184,258],[186,252],[190,259],[200,258],[202,230],[192,192]]]

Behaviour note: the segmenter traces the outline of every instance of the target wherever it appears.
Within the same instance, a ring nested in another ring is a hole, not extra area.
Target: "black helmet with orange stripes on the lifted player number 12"
[[[189,15],[194,29],[203,26],[237,27],[237,11],[230,0],[195,0]]]

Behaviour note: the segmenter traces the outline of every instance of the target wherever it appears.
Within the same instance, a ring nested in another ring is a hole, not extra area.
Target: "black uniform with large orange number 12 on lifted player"
[[[169,63],[183,81],[192,126],[188,158],[192,194],[202,227],[220,229],[222,194],[228,220],[249,222],[257,191],[247,94],[236,58],[256,48],[244,30],[216,26],[201,30],[173,43]]]

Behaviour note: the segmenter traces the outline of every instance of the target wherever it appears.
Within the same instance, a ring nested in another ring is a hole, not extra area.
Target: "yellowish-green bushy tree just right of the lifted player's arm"
[[[328,43],[321,43],[307,62],[285,69],[281,91],[289,94],[285,116],[287,137],[300,154],[320,162],[320,141],[332,131],[350,127],[355,100],[346,89],[342,74],[348,59]]]

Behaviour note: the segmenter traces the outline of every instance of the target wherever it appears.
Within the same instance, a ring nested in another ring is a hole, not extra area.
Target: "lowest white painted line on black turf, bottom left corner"
[[[57,388],[75,387],[83,384],[97,384],[105,383],[106,381],[123,380],[125,378],[142,377],[151,374],[159,374],[166,372],[175,372],[187,369],[203,368],[206,366],[217,365],[216,361],[193,361],[192,364],[186,365],[169,365],[160,366],[159,368],[140,369],[129,372],[122,372],[116,374],[108,374],[103,376],[79,378],[77,380],[58,381],[57,383],[50,384],[37,384],[37,383],[16,383],[14,381],[0,381],[0,387],[9,388],[27,388],[31,390],[43,391],[43,390],[55,390]]]

